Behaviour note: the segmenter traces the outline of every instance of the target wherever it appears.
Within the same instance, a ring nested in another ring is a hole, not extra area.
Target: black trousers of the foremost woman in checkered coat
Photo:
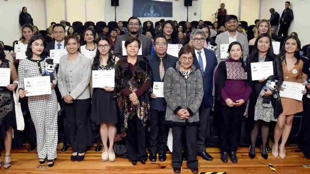
[[[183,163],[182,158],[182,139],[186,137],[186,155],[187,166],[189,168],[198,167],[197,160],[197,126],[172,126],[172,167],[181,167]]]

